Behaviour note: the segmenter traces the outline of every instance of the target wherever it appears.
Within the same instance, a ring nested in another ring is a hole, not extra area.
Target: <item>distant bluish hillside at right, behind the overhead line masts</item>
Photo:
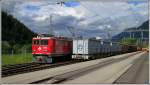
[[[142,30],[149,30],[149,21],[144,22],[141,26],[139,26],[137,28],[128,28],[128,29],[126,29],[124,31],[133,31],[132,34],[131,34],[132,37],[134,35],[135,39],[139,39],[139,38],[141,38],[141,33],[140,32],[134,32],[134,30],[140,30],[140,29],[142,29]],[[123,38],[129,38],[130,37],[129,33],[125,33],[124,31],[119,33],[118,35],[113,36],[112,39],[113,40],[115,40],[115,39],[121,40]],[[145,31],[143,33],[143,37],[144,38],[149,38],[149,31]]]

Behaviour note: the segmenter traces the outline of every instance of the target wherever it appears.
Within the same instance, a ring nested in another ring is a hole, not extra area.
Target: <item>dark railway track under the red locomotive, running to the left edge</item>
[[[24,63],[24,64],[16,64],[16,65],[7,65],[7,66],[2,66],[2,77],[27,73],[27,72],[33,72],[42,69],[54,68],[54,67],[73,64],[77,62],[82,62],[82,61],[71,60],[71,61],[64,61],[64,62],[59,62],[54,64]]]

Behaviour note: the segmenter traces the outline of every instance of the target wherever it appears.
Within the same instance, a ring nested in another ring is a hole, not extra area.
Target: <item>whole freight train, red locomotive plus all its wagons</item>
[[[137,46],[97,39],[35,37],[32,39],[33,62],[52,63],[57,59],[95,59],[137,51]]]

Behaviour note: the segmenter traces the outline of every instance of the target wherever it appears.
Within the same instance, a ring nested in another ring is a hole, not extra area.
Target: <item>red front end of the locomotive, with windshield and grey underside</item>
[[[53,54],[53,39],[50,38],[33,38],[32,55],[33,62],[51,63],[51,55]]]

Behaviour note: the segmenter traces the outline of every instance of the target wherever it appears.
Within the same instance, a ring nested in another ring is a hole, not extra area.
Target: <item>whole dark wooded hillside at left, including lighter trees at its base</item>
[[[23,23],[12,15],[2,12],[2,52],[4,50],[18,51],[22,48],[31,49],[34,36],[37,34]]]

